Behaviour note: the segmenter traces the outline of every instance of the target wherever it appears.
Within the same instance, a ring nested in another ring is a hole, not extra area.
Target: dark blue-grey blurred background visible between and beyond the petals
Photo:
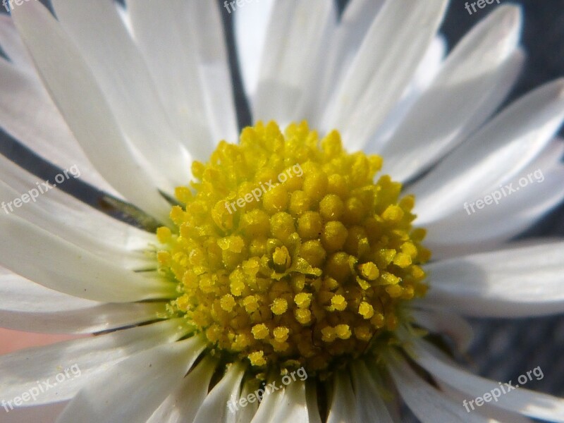
[[[348,0],[336,1],[341,10],[348,3]],[[166,4],[166,1],[163,3]],[[220,3],[222,4],[223,1]],[[544,82],[564,75],[564,0],[501,0],[501,3],[519,4],[525,12],[522,44],[527,51],[528,59],[522,76],[508,99],[511,101]],[[449,49],[475,23],[494,11],[496,7],[498,5],[494,2],[470,15],[465,9],[465,1],[452,0],[441,29],[448,40]],[[223,18],[226,32],[230,34],[233,15],[223,13]],[[248,108],[240,88],[232,36],[229,37],[229,47],[236,82],[235,97],[239,118],[240,122],[247,123],[249,121]],[[564,130],[560,130],[560,135],[564,135]],[[35,154],[11,140],[1,130],[0,153],[28,168],[39,178],[52,178],[59,172],[57,168],[45,163]],[[78,179],[68,180],[64,188],[91,204],[96,204],[99,197],[97,190],[81,183]],[[561,205],[522,237],[562,237],[563,235],[564,205]],[[469,363],[477,373],[496,381],[515,381],[520,374],[540,366],[544,372],[544,378],[539,381],[529,381],[527,388],[564,396],[564,360],[562,359],[564,317],[517,320],[473,319],[472,325],[475,329],[475,340],[470,348]],[[406,415],[405,421],[414,420],[411,416]]]

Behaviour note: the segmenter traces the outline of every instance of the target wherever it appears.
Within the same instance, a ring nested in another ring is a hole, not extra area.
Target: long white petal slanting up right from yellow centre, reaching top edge
[[[388,1],[324,117],[324,130],[343,130],[348,149],[362,148],[412,80],[441,23],[447,1]]]

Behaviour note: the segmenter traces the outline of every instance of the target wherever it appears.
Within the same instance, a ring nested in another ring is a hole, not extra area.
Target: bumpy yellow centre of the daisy
[[[315,374],[362,355],[427,288],[414,198],[374,179],[381,164],[307,123],[258,123],[239,145],[221,142],[177,188],[175,230],[157,231],[159,268],[178,283],[171,314],[257,372]]]

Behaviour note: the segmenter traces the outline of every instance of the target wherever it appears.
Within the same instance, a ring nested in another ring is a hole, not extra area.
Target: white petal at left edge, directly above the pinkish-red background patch
[[[4,271],[4,269],[1,269]],[[0,321],[7,329],[42,333],[92,333],[157,319],[165,303],[104,304],[0,274]]]

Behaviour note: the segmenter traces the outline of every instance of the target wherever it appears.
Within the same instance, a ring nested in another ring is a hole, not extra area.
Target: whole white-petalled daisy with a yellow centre
[[[214,1],[18,3],[2,128],[140,225],[1,159],[1,324],[95,335],[0,357],[3,421],[564,422],[455,361],[463,316],[564,310],[564,243],[508,243],[564,197],[564,81],[493,116],[519,8],[443,58],[446,0],[226,2],[239,132]]]

